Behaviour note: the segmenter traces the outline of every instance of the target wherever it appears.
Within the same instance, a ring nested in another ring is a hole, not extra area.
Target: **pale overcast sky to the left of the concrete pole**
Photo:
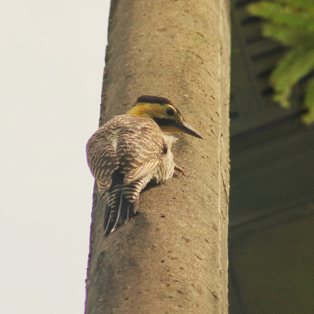
[[[109,0],[0,4],[0,313],[83,313]]]

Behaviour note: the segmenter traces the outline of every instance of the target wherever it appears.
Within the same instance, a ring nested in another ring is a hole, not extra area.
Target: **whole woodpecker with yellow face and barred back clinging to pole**
[[[138,195],[149,181],[168,180],[175,170],[183,173],[171,152],[176,138],[168,133],[202,138],[170,100],[143,95],[125,115],[112,118],[87,141],[89,169],[100,198],[107,195],[104,235],[136,213]]]

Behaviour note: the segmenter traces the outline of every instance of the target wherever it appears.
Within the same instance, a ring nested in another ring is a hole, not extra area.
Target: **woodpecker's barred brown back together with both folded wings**
[[[154,170],[164,154],[163,133],[150,118],[115,116],[88,140],[87,162],[99,190],[107,191],[119,169],[131,183]]]

